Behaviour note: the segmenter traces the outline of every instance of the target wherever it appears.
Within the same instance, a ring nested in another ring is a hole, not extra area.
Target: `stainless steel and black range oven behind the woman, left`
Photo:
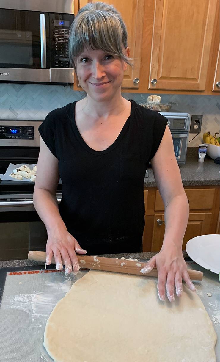
[[[0,174],[9,163],[37,164],[42,121],[0,120]],[[0,180],[0,260],[27,258],[45,250],[47,232],[33,206],[34,182]],[[62,183],[57,199],[62,197]]]

